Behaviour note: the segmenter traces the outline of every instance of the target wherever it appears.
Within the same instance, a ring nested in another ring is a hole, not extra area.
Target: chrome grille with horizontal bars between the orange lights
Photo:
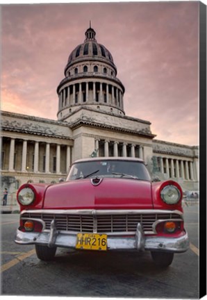
[[[144,233],[152,232],[152,225],[158,219],[181,219],[176,213],[138,213],[138,214],[110,214],[110,215],[76,215],[76,214],[49,214],[24,213],[22,218],[42,219],[45,229],[50,228],[54,219],[58,231],[73,231],[75,233],[119,233],[136,231],[137,224],[141,223]]]

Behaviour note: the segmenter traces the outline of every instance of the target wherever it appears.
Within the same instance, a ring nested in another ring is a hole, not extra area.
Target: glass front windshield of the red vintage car
[[[88,160],[74,163],[67,176],[67,181],[93,176],[131,178],[151,181],[144,163],[135,160]]]

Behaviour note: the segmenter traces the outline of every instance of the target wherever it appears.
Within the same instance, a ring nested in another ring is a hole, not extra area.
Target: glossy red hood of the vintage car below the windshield
[[[97,180],[98,181],[98,180]],[[97,184],[94,183],[94,184]],[[153,208],[151,182],[129,178],[92,178],[51,185],[44,194],[44,209],[149,209]]]

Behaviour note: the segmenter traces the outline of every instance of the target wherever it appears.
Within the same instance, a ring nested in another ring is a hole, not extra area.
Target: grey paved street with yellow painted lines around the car
[[[199,297],[198,205],[185,206],[190,249],[157,269],[150,253],[59,249],[53,262],[13,242],[18,214],[1,215],[1,294],[67,297],[195,299]]]

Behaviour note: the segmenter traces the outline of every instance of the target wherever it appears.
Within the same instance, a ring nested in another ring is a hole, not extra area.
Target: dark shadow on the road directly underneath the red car
[[[142,274],[153,274],[154,272],[165,272],[164,269],[158,268],[149,251],[138,252],[134,251],[68,251],[61,249],[56,254],[55,262],[62,265],[66,264],[69,267],[81,267],[82,272],[90,272],[94,274],[101,272],[108,274],[112,273],[128,273],[139,272]]]

